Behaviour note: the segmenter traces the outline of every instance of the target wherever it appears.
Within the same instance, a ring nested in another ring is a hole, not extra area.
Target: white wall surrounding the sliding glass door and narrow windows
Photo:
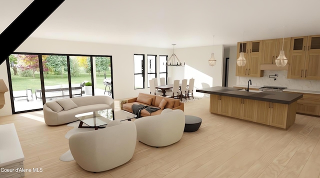
[[[172,49],[27,38],[14,52],[111,55],[114,99],[122,99],[135,97],[139,92],[149,92],[148,88],[134,89],[133,54],[157,54],[168,55],[168,57],[170,57]],[[185,67],[169,66],[169,76],[177,79],[195,78],[194,90],[202,88],[202,86],[221,86],[223,46],[214,46],[214,55],[217,62],[213,67],[208,65],[208,59],[210,58],[211,52],[212,46],[175,49],[175,54],[182,62],[185,61],[186,65]],[[0,72],[0,78],[2,78],[5,84],[9,86],[5,62],[0,65],[0,69],[1,71],[5,71]],[[145,79],[145,84],[146,83],[147,78]],[[6,92],[4,96],[6,103],[3,108],[0,109],[0,115],[12,114],[9,92]]]

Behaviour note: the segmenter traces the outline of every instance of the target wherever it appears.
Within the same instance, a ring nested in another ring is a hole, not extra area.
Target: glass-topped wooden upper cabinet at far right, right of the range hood
[[[320,35],[292,37],[287,77],[320,79]]]

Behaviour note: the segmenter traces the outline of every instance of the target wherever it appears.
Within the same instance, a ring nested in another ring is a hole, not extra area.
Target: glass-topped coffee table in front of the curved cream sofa
[[[104,128],[112,120],[131,120],[136,117],[135,114],[125,110],[103,109],[91,112],[76,114],[75,117],[80,120],[79,128]],[[83,126],[83,123],[87,126]]]

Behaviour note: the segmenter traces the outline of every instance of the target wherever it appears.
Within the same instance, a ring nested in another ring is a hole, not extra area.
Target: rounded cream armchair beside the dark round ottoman
[[[161,114],[134,120],[136,139],[150,146],[167,146],[179,141],[184,130],[184,112],[180,109],[163,109]]]

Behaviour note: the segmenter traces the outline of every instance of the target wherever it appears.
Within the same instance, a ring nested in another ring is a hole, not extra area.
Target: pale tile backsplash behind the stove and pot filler
[[[269,75],[277,74],[278,76],[271,76],[274,78],[269,78]],[[286,78],[287,70],[264,70],[263,77],[246,77],[238,76],[237,84],[247,85],[248,80],[251,79],[253,86],[286,86],[290,89],[302,89],[311,91],[320,91],[320,80],[306,80],[306,79],[290,79]]]

